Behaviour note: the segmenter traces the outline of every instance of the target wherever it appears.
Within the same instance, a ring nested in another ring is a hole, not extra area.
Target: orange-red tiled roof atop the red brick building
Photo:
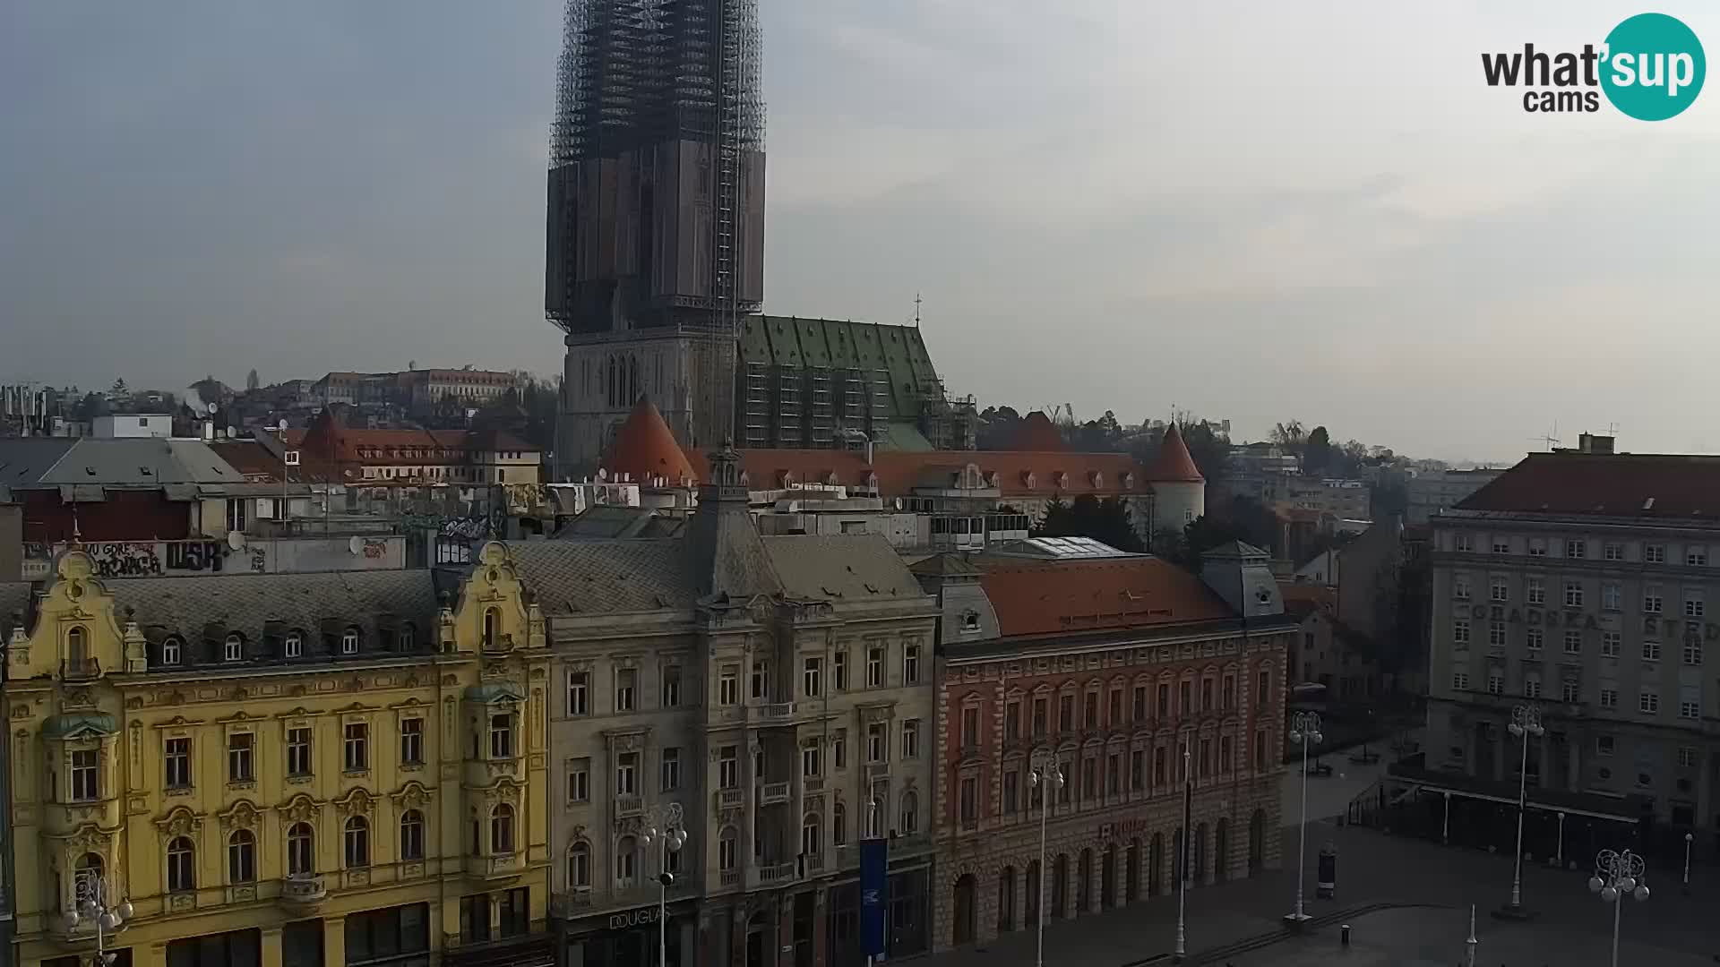
[[[1158,557],[974,563],[1004,637],[1233,618],[1201,578]]]

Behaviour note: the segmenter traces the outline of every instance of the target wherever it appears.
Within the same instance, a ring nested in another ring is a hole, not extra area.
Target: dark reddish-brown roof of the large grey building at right
[[[1720,458],[1531,453],[1457,509],[1711,521],[1720,520]]]

